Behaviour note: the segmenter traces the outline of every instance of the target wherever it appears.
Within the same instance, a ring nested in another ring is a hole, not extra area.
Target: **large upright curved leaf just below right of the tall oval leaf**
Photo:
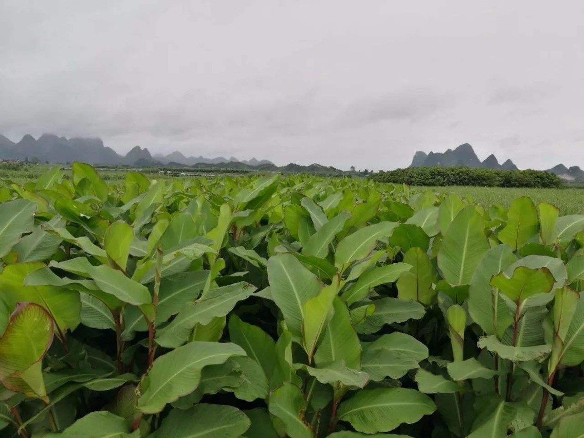
[[[485,253],[472,276],[468,290],[468,313],[487,335],[500,338],[513,322],[513,315],[499,297],[499,289],[491,286],[491,279],[516,260],[508,245],[497,245]]]

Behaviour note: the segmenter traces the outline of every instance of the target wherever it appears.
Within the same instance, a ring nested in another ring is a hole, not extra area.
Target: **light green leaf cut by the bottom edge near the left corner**
[[[126,419],[107,411],[90,412],[61,433],[47,433],[46,438],[129,438],[140,437],[140,432],[130,432]]]

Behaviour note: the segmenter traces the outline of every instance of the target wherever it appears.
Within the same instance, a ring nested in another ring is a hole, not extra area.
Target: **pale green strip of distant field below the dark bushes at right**
[[[458,193],[470,196],[475,203],[483,206],[499,204],[508,208],[510,203],[520,196],[529,196],[534,203],[549,202],[559,208],[560,214],[584,213],[584,187],[566,189],[504,188],[504,187],[417,187],[419,190]]]

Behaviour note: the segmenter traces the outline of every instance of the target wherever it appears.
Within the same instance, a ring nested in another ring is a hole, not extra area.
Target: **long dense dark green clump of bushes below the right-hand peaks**
[[[561,187],[564,184],[557,175],[544,171],[439,166],[380,171],[370,178],[412,186]]]

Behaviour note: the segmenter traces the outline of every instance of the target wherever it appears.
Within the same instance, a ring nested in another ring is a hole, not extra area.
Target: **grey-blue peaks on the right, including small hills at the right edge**
[[[503,164],[499,164],[499,160],[495,155],[491,154],[484,161],[481,161],[475,153],[472,146],[468,143],[461,144],[454,150],[448,149],[446,152],[426,152],[418,151],[413,155],[412,164],[410,167],[426,167],[426,166],[467,166],[482,169],[498,169],[505,171],[516,171],[517,166],[507,159]],[[584,181],[584,171],[578,166],[570,168],[563,164],[547,169],[546,172],[555,173],[559,178],[566,181],[580,182]]]

